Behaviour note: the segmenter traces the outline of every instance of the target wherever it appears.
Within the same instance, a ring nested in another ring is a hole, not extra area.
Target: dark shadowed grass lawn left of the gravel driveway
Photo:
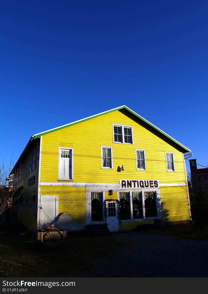
[[[31,237],[3,234],[0,238],[0,277],[68,277],[88,271],[108,248],[122,250],[114,236],[66,238],[67,248],[36,248]],[[61,242],[60,242],[61,243]]]

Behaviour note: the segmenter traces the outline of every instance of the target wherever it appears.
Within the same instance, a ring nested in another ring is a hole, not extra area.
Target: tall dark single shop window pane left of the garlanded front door
[[[91,193],[91,218],[92,221],[103,221],[103,193]]]

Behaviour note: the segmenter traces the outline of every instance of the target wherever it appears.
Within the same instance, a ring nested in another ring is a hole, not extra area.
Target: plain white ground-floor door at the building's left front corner
[[[40,220],[38,227],[44,228],[58,215],[58,196],[40,197]]]

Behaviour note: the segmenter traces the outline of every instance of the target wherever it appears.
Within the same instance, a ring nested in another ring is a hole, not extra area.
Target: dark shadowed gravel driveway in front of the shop
[[[69,277],[208,277],[208,240],[141,231],[112,235],[123,249],[109,248],[88,271]]]

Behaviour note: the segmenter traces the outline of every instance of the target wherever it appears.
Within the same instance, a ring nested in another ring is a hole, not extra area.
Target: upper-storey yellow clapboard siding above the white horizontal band
[[[132,126],[134,144],[113,143],[112,123]],[[113,147],[113,169],[101,168],[100,145]],[[41,182],[57,182],[58,147],[73,147],[74,182],[118,183],[123,178],[185,183],[182,153],[120,111],[43,135]],[[146,171],[136,170],[135,148],[145,149]],[[174,153],[175,172],[166,170],[165,151]],[[122,165],[125,171],[117,172]]]

